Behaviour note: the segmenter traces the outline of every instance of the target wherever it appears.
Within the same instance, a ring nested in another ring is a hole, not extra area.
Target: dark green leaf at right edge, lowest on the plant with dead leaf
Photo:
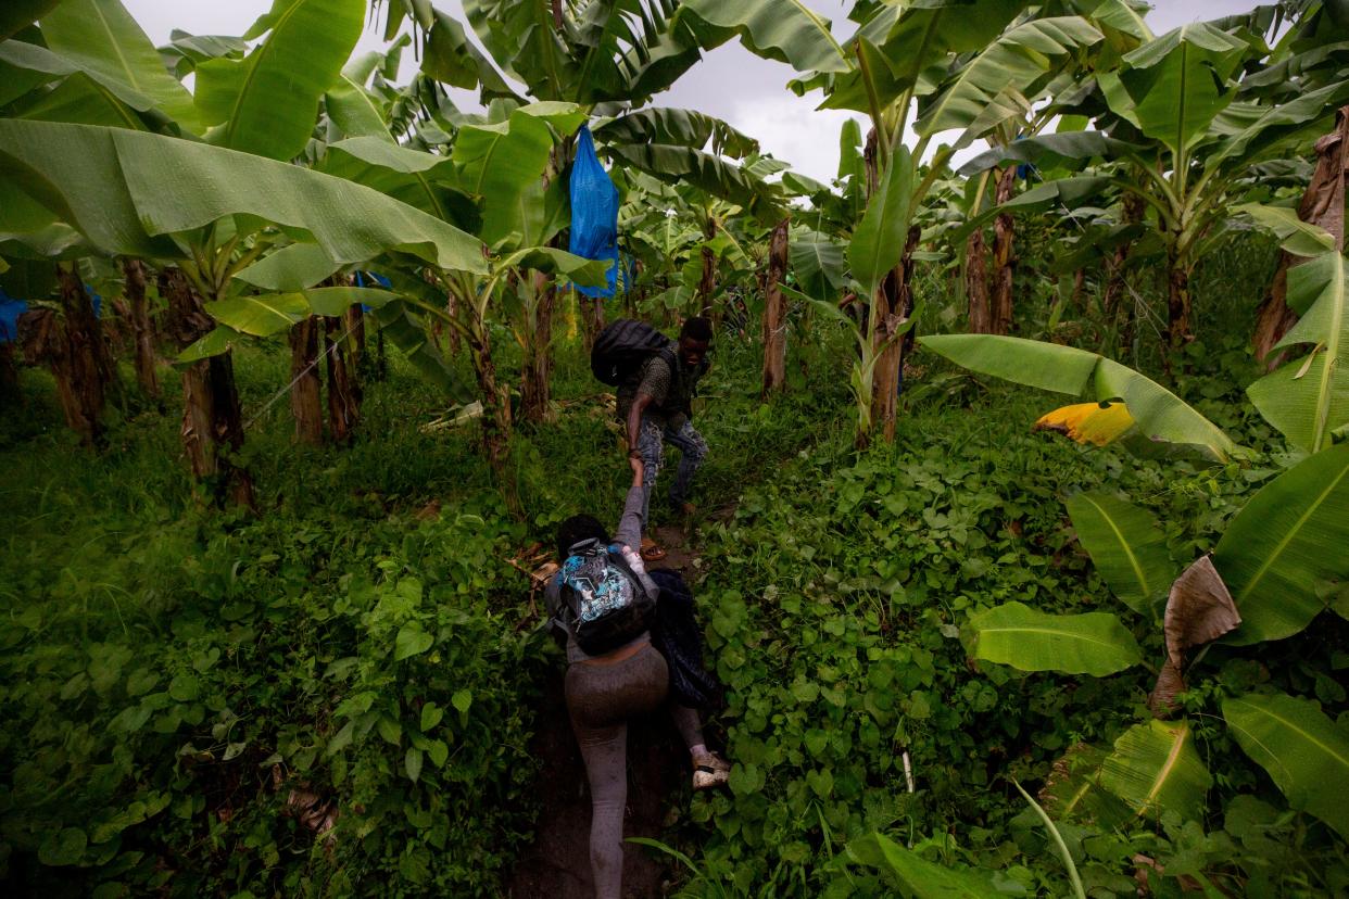
[[[1222,717],[1237,744],[1283,791],[1349,838],[1349,737],[1317,705],[1283,693],[1224,700]]]

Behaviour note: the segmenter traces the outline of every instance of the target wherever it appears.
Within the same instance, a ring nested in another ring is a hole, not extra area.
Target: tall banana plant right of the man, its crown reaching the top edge
[[[786,62],[800,73],[789,86],[797,93],[823,90],[822,108],[855,109],[867,115],[874,135],[869,156],[874,159],[874,166],[866,174],[866,182],[869,202],[874,204],[878,202],[877,187],[889,179],[890,166],[907,164],[893,160],[900,155],[897,150],[902,147],[915,106],[920,113],[924,109],[928,112],[912,125],[917,139],[909,156],[921,159],[939,128],[952,127],[954,123],[970,131],[969,140],[973,140],[1005,124],[1009,111],[1028,105],[1017,106],[1013,100],[1018,94],[1037,96],[1045,75],[1056,69],[1056,61],[1072,57],[1101,39],[1099,30],[1078,19],[1058,30],[1054,26],[1025,24],[1018,16],[1031,5],[1018,0],[997,0],[981,4],[979,15],[971,16],[969,8],[956,0],[919,5],[862,4],[854,9],[857,28],[846,40],[838,40],[831,23],[801,4],[688,0],[677,18],[691,24],[704,47],[738,36],[751,53]],[[1128,15],[1122,4],[1105,5],[1120,18]],[[1020,23],[1012,28],[1017,36],[998,44],[998,36],[1013,23]],[[963,74],[952,81],[934,78],[934,73],[959,69],[958,63],[967,54],[979,55],[990,44],[998,44],[998,50],[989,53],[983,62],[965,67]],[[996,78],[989,73],[994,69],[1006,69],[1000,75],[1001,88],[1006,90],[1000,88],[997,93],[992,92]],[[925,173],[911,181],[909,195],[901,206],[909,220],[917,214],[935,179],[942,177],[952,152],[951,146],[938,147]],[[892,270],[888,270],[894,275],[876,282],[877,292],[865,295],[867,305],[880,311],[869,314],[866,325],[876,365],[869,371],[863,365],[863,377],[855,379],[855,387],[870,381],[873,391],[867,408],[859,410],[859,445],[871,439],[873,429],[880,429],[885,439],[893,439],[894,434],[894,400],[904,345],[897,336],[901,328],[908,328],[905,322],[912,314],[912,297],[902,290],[913,267],[912,251],[904,252],[909,243],[904,237],[908,232],[909,222],[905,221],[897,229],[901,235],[898,241],[886,245],[886,249],[898,249]],[[857,272],[854,279],[861,284],[870,280]]]

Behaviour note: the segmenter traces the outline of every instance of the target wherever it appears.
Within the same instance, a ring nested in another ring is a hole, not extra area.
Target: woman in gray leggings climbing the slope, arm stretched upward
[[[641,545],[642,535],[642,461],[627,461],[633,468],[633,485],[612,540],[594,518],[573,515],[557,530],[557,557],[558,562],[564,562],[572,547],[591,539],[604,546],[619,543],[633,574],[654,597],[657,588],[646,574],[641,555],[633,550]],[[697,712],[668,701],[669,670],[664,656],[652,646],[650,631],[643,631],[616,650],[590,656],[577,646],[567,624],[558,578],[549,580],[545,596],[549,613],[567,632],[567,710],[591,786],[595,895],[618,899],[623,877],[623,807],[627,803],[627,720],[653,712],[662,704],[669,708],[693,762],[695,790],[726,783],[731,766],[707,749]]]

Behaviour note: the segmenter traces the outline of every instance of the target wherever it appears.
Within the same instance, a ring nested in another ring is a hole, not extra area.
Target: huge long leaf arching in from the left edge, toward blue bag
[[[389,249],[486,271],[464,232],[340,178],[161,135],[0,120],[0,170],[104,252],[179,259],[159,235],[251,214],[312,239],[337,263]]]

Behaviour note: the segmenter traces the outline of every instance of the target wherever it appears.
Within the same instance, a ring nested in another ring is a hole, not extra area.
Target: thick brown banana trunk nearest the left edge
[[[63,325],[53,334],[51,373],[66,423],[81,442],[93,446],[103,442],[104,391],[111,381],[112,360],[80,275],[65,264],[57,270]]]

